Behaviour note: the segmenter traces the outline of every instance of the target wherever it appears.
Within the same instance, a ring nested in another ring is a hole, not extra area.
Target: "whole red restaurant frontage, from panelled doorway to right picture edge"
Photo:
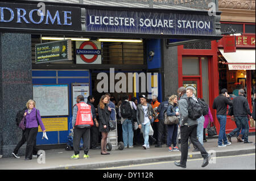
[[[236,39],[238,53],[241,50],[249,50],[249,53],[254,52],[255,57],[255,34],[243,34],[236,37]],[[205,41],[203,43],[180,45],[177,48],[179,87],[191,87],[197,97],[204,98],[205,102],[209,104],[217,132],[220,130],[220,125],[216,117],[216,110],[212,109],[212,104],[220,90],[226,88],[229,94],[233,94],[238,85],[244,86],[250,108],[252,108],[253,100],[251,95],[252,92],[255,92],[255,59],[253,66],[247,66],[251,65],[251,62],[241,60],[240,63],[243,64],[238,64],[235,68],[239,69],[242,65],[242,70],[229,70],[229,66],[234,64],[226,62],[221,54],[220,50],[223,49],[222,40],[223,38],[218,42]],[[244,70],[249,68],[251,70]],[[236,124],[228,116],[226,133],[234,128],[236,128]],[[250,128],[249,132],[255,132],[255,128]]]

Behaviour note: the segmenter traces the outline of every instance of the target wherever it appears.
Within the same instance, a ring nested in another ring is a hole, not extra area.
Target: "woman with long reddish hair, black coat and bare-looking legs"
[[[99,132],[101,132],[101,154],[110,154],[106,152],[106,144],[109,133],[109,120],[110,112],[108,103],[108,96],[102,95],[100,103],[98,104],[98,117],[99,117]]]

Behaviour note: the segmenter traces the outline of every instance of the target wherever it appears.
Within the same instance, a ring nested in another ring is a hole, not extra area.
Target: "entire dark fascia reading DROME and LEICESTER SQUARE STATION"
[[[0,2],[0,30],[19,28],[22,31],[75,31],[93,35],[122,34],[162,36],[221,36],[220,12],[208,11],[116,9],[115,7],[84,7],[46,5],[45,12],[34,4]],[[192,38],[191,37],[191,38]]]

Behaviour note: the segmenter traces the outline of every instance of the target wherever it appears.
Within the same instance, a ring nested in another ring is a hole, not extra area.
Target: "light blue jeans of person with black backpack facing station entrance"
[[[123,144],[125,146],[133,146],[133,123],[126,119],[122,124],[123,129]]]

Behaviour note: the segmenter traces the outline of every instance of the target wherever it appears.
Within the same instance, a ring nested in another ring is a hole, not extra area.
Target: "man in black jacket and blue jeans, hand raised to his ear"
[[[222,89],[221,94],[213,101],[213,109],[217,110],[217,119],[220,123],[220,132],[218,133],[218,147],[230,145],[226,138],[226,107],[232,106],[233,102],[228,95],[228,90]],[[224,143],[224,144],[223,144]]]

